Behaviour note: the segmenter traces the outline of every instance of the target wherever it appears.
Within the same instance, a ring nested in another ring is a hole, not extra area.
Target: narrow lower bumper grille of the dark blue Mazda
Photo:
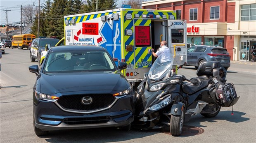
[[[64,123],[68,125],[85,125],[85,124],[100,124],[110,120],[108,116],[92,117],[92,118],[66,118]]]

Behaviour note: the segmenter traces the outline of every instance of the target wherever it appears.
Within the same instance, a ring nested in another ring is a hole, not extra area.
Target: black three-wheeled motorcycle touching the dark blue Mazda
[[[135,92],[135,128],[169,126],[170,133],[179,136],[191,115],[215,117],[220,107],[237,103],[235,87],[226,83],[226,70],[219,62],[204,62],[197,69],[198,77],[189,80],[175,74],[173,61],[163,64],[159,59]]]

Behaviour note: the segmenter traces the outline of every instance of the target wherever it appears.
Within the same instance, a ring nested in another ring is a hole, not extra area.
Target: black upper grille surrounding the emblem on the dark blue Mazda
[[[83,97],[91,97],[92,103],[82,104]],[[115,97],[111,94],[94,94],[94,95],[66,95],[57,100],[59,106],[70,111],[95,111],[109,107],[115,101]]]

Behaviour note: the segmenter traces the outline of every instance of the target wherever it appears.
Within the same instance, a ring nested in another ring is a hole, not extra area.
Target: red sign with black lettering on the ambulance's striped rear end
[[[135,46],[151,46],[150,26],[135,26]]]

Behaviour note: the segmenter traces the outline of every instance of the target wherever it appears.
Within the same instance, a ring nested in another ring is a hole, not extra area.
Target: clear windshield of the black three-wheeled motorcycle
[[[166,75],[171,72],[173,66],[173,55],[171,54],[171,59],[169,60],[161,60],[161,55],[156,58],[154,61],[152,67],[149,69],[149,74],[147,78],[158,81],[160,79],[163,79],[165,77],[168,77]]]

